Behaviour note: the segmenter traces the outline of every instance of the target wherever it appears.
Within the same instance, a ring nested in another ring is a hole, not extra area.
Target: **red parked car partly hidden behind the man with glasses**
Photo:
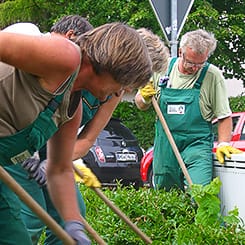
[[[232,113],[232,138],[231,146],[245,151],[245,112]],[[216,152],[218,140],[218,121],[214,120],[213,133],[214,133],[214,147],[213,152]],[[164,156],[163,156],[164,157]],[[143,182],[149,183],[152,186],[152,160],[153,160],[153,147],[149,148],[141,160],[140,173]]]

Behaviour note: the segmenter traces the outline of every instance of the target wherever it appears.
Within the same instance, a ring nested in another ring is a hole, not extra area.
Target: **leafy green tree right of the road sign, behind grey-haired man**
[[[243,0],[196,0],[182,33],[203,28],[218,40],[210,61],[224,71],[226,78],[245,76],[245,6]],[[245,86],[245,81],[244,81]]]

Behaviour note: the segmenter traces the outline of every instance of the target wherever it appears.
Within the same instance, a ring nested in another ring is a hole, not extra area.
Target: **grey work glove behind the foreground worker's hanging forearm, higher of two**
[[[46,164],[47,160],[40,162],[39,154],[35,152],[33,156],[25,160],[21,166],[27,170],[30,179],[34,179],[40,186],[44,186],[47,184]]]

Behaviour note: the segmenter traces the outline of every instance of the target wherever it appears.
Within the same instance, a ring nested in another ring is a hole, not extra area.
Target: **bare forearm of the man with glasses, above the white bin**
[[[232,118],[226,117],[218,121],[218,142],[230,142],[232,136]]]

